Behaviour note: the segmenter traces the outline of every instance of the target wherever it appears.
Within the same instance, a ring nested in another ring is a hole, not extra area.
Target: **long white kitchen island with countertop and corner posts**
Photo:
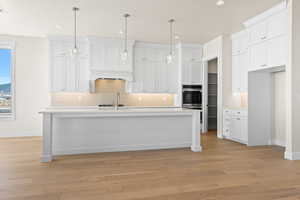
[[[42,162],[55,155],[172,149],[200,144],[200,111],[182,108],[47,108]]]

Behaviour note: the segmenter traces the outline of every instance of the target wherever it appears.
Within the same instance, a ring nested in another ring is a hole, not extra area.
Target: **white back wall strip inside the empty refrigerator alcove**
[[[286,79],[285,72],[278,72],[272,75],[273,79],[273,144],[285,146],[286,142]]]

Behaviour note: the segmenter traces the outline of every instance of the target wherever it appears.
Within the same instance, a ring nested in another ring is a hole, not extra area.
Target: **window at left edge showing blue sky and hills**
[[[0,118],[14,116],[13,48],[0,42]]]

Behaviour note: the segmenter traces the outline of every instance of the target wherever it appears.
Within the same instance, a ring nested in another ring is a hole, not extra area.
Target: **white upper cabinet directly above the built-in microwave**
[[[181,44],[180,65],[183,85],[201,85],[203,83],[202,46]]]

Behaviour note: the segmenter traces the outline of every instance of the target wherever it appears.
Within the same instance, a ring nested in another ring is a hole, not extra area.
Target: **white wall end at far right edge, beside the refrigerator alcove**
[[[300,160],[300,1],[290,0],[289,61],[286,67],[287,84],[287,146],[285,158]]]

